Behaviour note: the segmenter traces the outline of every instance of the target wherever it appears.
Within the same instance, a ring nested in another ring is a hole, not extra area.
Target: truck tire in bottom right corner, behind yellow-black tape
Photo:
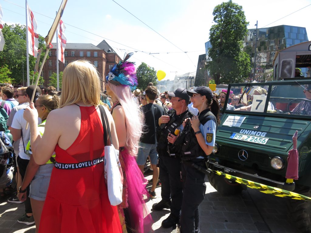
[[[311,197],[310,187],[295,189],[294,192]],[[289,199],[287,208],[290,218],[303,233],[311,232],[311,201]]]

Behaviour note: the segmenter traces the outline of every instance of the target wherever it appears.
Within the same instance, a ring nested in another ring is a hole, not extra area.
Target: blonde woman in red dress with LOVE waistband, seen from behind
[[[110,205],[104,181],[106,132],[99,103],[98,73],[90,62],[79,60],[64,70],[60,106],[49,113],[42,137],[34,104],[25,110],[35,162],[44,164],[54,150],[56,153],[39,232],[122,232],[117,207]],[[110,140],[118,148],[114,121],[105,111]]]

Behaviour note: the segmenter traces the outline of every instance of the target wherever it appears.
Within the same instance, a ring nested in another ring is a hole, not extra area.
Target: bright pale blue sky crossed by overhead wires
[[[168,79],[173,79],[176,71],[179,75],[196,71],[198,56],[205,53],[204,43],[209,40],[209,29],[213,24],[213,9],[223,2],[219,0],[115,1],[171,43],[112,0],[68,0],[62,18],[67,27],[65,31],[67,42],[97,45],[106,38],[121,58],[125,52],[144,51],[145,53],[134,52],[132,61],[135,61],[137,66],[145,62],[156,70],[163,70]],[[249,21],[248,28],[255,28],[256,20],[259,28],[277,25],[301,26],[306,27],[311,40],[311,25],[308,17],[311,10],[311,6],[308,6],[311,4],[310,0],[259,2],[236,0],[233,2],[243,7],[246,19]],[[28,5],[34,11],[38,22],[38,32],[42,36],[47,35],[53,23],[51,18],[55,17],[60,3],[61,0],[28,0]],[[26,24],[24,0],[0,0],[0,4],[3,22]],[[293,13],[303,7],[305,8]],[[289,14],[291,15],[287,16]],[[281,19],[284,16],[287,17]],[[160,54],[150,55],[149,53]]]

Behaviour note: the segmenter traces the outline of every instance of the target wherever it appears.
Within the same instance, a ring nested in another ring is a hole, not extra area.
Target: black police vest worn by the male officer
[[[161,124],[157,127],[157,151],[161,154],[168,154],[168,150],[171,153],[175,153],[174,145],[169,144],[167,136],[173,134],[175,130],[183,123],[186,118],[193,117],[193,114],[188,109],[180,115],[176,115],[174,109],[169,110],[166,116],[170,116],[170,121],[166,124]]]

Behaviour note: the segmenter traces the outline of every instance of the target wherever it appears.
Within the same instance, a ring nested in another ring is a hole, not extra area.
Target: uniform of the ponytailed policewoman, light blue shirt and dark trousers
[[[215,145],[217,129],[216,117],[209,111],[203,110],[198,115],[200,120],[199,129],[205,144]],[[188,137],[184,137],[188,135]],[[182,156],[182,177],[183,177],[183,201],[180,217],[180,232],[191,233],[200,232],[200,212],[199,205],[204,200],[206,185],[206,174],[198,171],[193,164],[204,167],[206,154],[197,142],[196,134],[190,124],[185,126],[181,135],[183,138]],[[187,145],[188,144],[188,145]]]

